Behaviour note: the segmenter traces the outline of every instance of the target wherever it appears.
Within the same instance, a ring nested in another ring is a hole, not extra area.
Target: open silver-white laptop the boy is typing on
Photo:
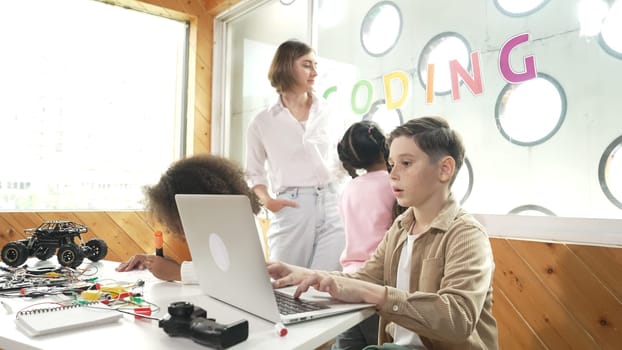
[[[178,194],[175,200],[199,285],[210,297],[283,324],[373,306],[342,303],[310,288],[295,303],[311,301],[321,309],[279,313],[248,197]],[[279,289],[277,293],[291,296],[294,289]]]

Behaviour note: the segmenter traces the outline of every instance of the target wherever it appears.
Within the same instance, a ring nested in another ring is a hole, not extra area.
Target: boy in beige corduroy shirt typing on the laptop
[[[450,191],[464,161],[459,135],[444,119],[423,117],[397,127],[388,143],[391,187],[408,210],[372,257],[349,274],[269,263],[274,286],[375,304],[384,345],[370,349],[497,349],[490,242]]]

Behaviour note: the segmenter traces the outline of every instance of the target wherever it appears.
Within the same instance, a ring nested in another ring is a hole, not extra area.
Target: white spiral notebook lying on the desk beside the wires
[[[121,317],[123,315],[110,306],[93,302],[20,311],[15,317],[15,324],[25,334],[34,337],[115,322]]]

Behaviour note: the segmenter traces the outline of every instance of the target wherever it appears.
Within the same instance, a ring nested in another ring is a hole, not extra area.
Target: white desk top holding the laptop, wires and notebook
[[[144,299],[161,308],[159,312],[152,315],[154,317],[162,318],[167,315],[168,305],[171,302],[188,301],[205,309],[208,317],[215,318],[216,322],[221,324],[230,324],[241,319],[248,320],[248,339],[230,348],[233,350],[314,349],[369,317],[373,312],[367,309],[290,325],[288,334],[285,337],[279,337],[272,323],[202,295],[196,285],[163,282],[145,271],[115,272],[114,267],[117,264],[116,262],[95,263],[94,265],[100,269],[97,276],[100,279],[112,278],[122,282],[144,280]],[[123,318],[116,323],[34,338],[29,338],[17,329],[14,322],[15,312],[29,304],[58,300],[54,298],[56,297],[30,300],[2,298],[11,306],[13,313],[7,314],[4,308],[0,307],[0,349],[207,349],[191,339],[169,337],[158,327],[156,320],[136,320],[132,315],[123,315]]]

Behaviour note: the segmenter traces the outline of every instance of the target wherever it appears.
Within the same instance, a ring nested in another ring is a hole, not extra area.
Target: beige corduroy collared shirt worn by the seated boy
[[[380,344],[394,324],[416,332],[428,349],[497,349],[492,315],[494,260],[484,227],[450,197],[414,242],[409,290],[396,288],[397,267],[412,209],[398,217],[358,272],[347,276],[384,285]]]

